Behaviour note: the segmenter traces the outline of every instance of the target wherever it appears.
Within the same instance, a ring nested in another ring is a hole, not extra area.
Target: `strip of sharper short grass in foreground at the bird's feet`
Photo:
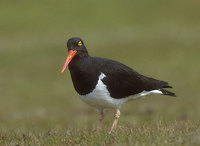
[[[6,132],[2,144],[11,145],[191,145],[199,144],[199,121],[143,122],[118,126],[112,134],[107,128],[95,131],[91,128],[56,128],[34,131]]]

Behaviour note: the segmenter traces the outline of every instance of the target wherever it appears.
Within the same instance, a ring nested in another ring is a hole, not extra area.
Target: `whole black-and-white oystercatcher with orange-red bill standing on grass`
[[[81,38],[70,38],[67,47],[69,53],[61,73],[69,66],[76,92],[99,111],[99,127],[104,109],[115,109],[110,133],[117,125],[120,107],[127,101],[149,94],[176,96],[165,89],[172,88],[165,81],[143,76],[114,60],[90,56]]]

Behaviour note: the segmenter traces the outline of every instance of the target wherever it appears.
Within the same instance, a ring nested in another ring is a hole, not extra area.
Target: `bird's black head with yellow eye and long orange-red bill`
[[[88,52],[87,52],[86,47],[81,38],[78,38],[78,37],[70,38],[67,41],[67,48],[68,48],[68,56],[63,65],[61,73],[63,73],[65,71],[68,64],[72,61],[72,59],[75,56],[79,56],[79,57],[88,56]]]

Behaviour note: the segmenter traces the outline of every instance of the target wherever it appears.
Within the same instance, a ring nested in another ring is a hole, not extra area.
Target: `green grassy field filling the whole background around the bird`
[[[199,145],[200,2],[1,1],[1,145]],[[113,111],[96,132],[97,112],[60,75],[69,37],[93,56],[168,81],[178,98],[149,96]]]

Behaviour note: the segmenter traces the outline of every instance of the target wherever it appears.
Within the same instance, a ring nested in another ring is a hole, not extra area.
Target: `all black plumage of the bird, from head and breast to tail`
[[[81,41],[82,45],[77,43]],[[128,66],[114,60],[91,57],[80,38],[71,38],[67,43],[69,50],[77,50],[77,54],[69,64],[75,90],[86,95],[95,88],[98,77],[105,74],[102,82],[106,85],[110,96],[115,99],[125,98],[142,91],[160,90],[164,95],[175,96],[164,88],[171,88],[167,82],[143,76]]]

